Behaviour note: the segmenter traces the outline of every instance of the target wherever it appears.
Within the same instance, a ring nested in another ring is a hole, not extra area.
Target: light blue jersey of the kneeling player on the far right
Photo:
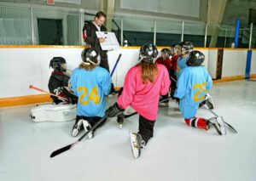
[[[212,77],[205,66],[187,66],[180,72],[174,97],[185,119],[195,116],[207,90],[212,88]]]

